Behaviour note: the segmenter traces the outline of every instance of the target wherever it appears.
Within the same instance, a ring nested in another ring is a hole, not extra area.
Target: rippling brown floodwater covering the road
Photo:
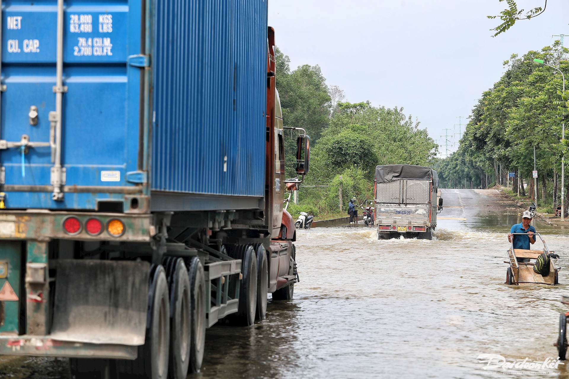
[[[443,190],[432,241],[377,240],[363,224],[299,231],[295,299],[271,302],[253,327],[209,329],[202,370],[188,379],[479,378],[490,374],[482,353],[555,359],[569,228],[535,225],[560,254],[562,285],[506,286],[506,233],[521,216],[492,194]],[[569,378],[569,368],[494,377],[528,374]]]

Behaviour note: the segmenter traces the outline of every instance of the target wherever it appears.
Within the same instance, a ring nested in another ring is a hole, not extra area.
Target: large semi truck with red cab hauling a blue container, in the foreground
[[[2,2],[0,355],[185,378],[205,330],[291,299],[267,2]],[[284,176],[284,130],[298,131]]]

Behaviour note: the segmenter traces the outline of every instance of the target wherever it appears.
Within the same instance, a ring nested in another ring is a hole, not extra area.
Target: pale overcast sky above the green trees
[[[518,6],[543,2],[519,0]],[[486,16],[505,6],[498,0],[269,0],[269,25],[291,69],[318,64],[347,101],[403,107],[444,144],[444,128],[458,134],[457,117],[471,114],[512,53],[569,35],[569,1],[550,0],[542,15],[492,38],[490,28],[499,22]],[[444,156],[444,145],[440,151]]]

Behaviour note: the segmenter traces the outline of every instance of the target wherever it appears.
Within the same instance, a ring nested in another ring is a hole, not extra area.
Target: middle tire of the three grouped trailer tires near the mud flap
[[[188,375],[191,341],[191,295],[188,270],[181,258],[168,258],[166,272],[170,284],[170,363],[168,378]]]

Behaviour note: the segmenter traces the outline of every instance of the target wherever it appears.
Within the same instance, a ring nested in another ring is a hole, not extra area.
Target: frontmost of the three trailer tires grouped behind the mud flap
[[[205,274],[198,257],[188,263],[191,298],[189,372],[199,372],[205,349]]]

